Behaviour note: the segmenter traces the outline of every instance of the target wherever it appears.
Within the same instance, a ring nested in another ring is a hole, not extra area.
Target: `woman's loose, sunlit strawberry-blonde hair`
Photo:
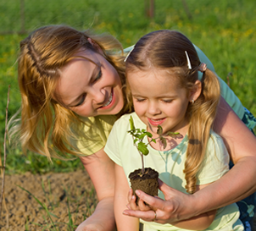
[[[93,46],[88,38],[96,44]],[[22,97],[21,123],[19,128],[14,128],[20,129],[24,151],[29,149],[48,158],[60,157],[56,150],[64,156],[66,153],[79,154],[79,151],[70,149],[70,138],[77,135],[74,128],[78,131],[85,124],[69,108],[53,100],[53,96],[60,78],[59,70],[81,49],[98,52],[98,47],[124,84],[122,46],[113,36],[95,36],[88,30],[81,32],[65,25],[49,25],[33,31],[20,42],[18,80]]]

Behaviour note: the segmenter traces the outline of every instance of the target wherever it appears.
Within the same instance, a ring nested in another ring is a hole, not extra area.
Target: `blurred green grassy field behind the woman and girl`
[[[180,30],[205,52],[223,80],[231,73],[230,85],[243,105],[256,115],[256,2],[255,0],[186,0],[189,19],[182,1],[155,0],[155,16],[145,16],[144,1],[138,0],[30,0],[25,1],[25,30],[42,25],[65,24],[77,29],[116,36],[124,47],[134,44],[147,32]],[[20,1],[0,3],[0,141],[3,144],[8,85],[11,86],[8,116],[20,107],[16,58],[22,29]],[[3,146],[1,146],[3,156]],[[28,154],[18,147],[8,148],[7,173],[31,171],[72,171],[82,168],[79,161],[48,164],[46,157]]]

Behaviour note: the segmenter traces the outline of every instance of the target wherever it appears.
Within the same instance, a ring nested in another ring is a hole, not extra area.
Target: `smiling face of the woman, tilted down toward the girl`
[[[56,94],[62,103],[83,117],[119,113],[124,100],[116,69],[91,50],[78,52],[75,56],[89,58],[94,63],[75,58],[61,69]]]

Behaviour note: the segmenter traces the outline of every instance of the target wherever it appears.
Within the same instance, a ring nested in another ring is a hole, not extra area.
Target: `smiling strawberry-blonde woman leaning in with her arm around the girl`
[[[120,42],[112,36],[95,36],[65,25],[44,26],[20,42],[18,81],[22,107],[20,126],[14,129],[20,133],[24,151],[29,149],[48,158],[64,158],[66,153],[80,157],[99,202],[78,230],[115,228],[114,163],[103,147],[114,121],[121,113],[129,112],[123,94],[125,63],[121,49]],[[199,49],[198,55],[210,64]],[[237,96],[228,87],[225,90],[224,98],[240,118],[246,117]],[[242,113],[238,108],[242,108]],[[209,199],[213,205],[203,204],[200,211],[212,210],[215,205],[242,200],[256,190],[256,169],[251,168],[256,162],[256,139],[230,107],[224,105],[219,110],[215,125],[230,146],[236,162],[232,173],[239,175],[241,182],[220,179],[218,184],[229,184],[230,191],[220,192],[217,185],[212,191],[219,196],[214,199],[208,192],[202,193],[198,200],[176,194],[177,200],[186,199],[185,204],[180,203],[178,212],[183,219],[198,212],[194,208],[201,198]],[[237,127],[243,129],[242,142],[235,135]],[[176,215],[170,215],[170,220],[176,221]]]

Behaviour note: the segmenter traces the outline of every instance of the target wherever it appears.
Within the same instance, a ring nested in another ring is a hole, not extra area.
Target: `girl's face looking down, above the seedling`
[[[164,69],[137,70],[127,74],[134,109],[142,122],[156,135],[158,125],[164,132],[186,131],[186,108],[192,101],[188,91],[181,88],[174,72]],[[150,125],[150,126],[149,126]]]

